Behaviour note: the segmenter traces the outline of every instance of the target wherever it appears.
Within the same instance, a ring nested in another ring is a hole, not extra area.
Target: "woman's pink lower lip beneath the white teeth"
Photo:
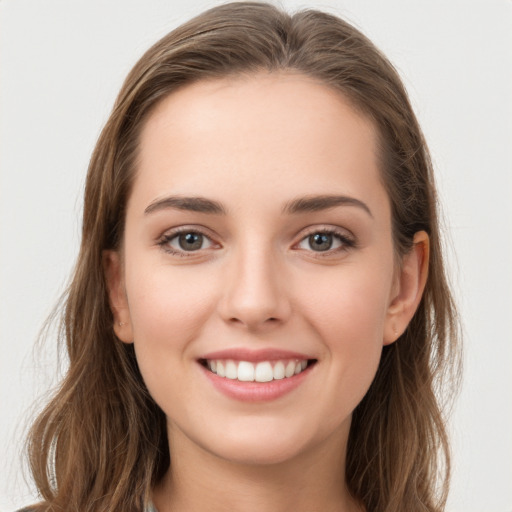
[[[206,377],[215,388],[229,398],[242,402],[265,402],[276,400],[300,386],[311,373],[313,365],[293,377],[271,380],[270,382],[242,382],[219,377],[200,364]]]

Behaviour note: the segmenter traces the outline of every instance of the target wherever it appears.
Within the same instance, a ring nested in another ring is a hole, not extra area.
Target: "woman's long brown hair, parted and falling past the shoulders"
[[[69,369],[29,439],[41,510],[141,511],[167,471],[165,417],[144,386],[133,346],[114,335],[102,251],[118,248],[122,239],[139,134],[155,105],[198,80],[261,70],[314,77],[368,116],[380,136],[397,255],[411,248],[417,231],[430,236],[424,296],[405,333],[384,347],[375,380],[353,414],[346,475],[369,512],[444,508],[450,458],[439,397],[458,375],[458,329],[432,165],[407,94],[388,60],[345,21],[241,2],[201,14],[144,54],[94,150],[82,244],[65,298]]]

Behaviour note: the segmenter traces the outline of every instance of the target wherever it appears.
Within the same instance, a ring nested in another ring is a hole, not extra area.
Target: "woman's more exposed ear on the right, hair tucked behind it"
[[[418,308],[427,282],[429,250],[427,233],[418,231],[395,277],[384,327],[384,345],[402,335]]]

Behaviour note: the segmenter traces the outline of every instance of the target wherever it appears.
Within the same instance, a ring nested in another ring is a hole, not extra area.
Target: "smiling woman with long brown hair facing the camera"
[[[338,18],[227,4],[148,50],[90,163],[64,324],[38,510],[443,509],[431,164]]]

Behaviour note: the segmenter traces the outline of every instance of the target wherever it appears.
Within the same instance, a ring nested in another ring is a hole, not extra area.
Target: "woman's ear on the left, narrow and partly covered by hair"
[[[133,343],[133,329],[124,286],[124,273],[121,255],[118,251],[103,251],[103,272],[107,284],[108,298],[114,332],[124,343]]]

